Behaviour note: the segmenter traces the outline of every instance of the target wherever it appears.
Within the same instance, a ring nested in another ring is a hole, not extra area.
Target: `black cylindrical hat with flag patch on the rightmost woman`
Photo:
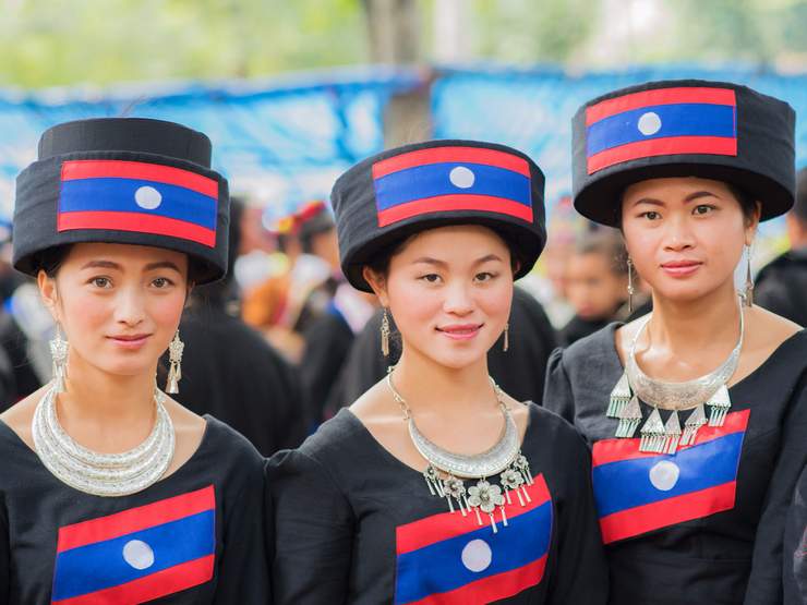
[[[598,97],[573,119],[577,210],[619,223],[625,187],[647,179],[724,181],[786,213],[795,192],[795,122],[784,101],[737,84],[650,82]]]

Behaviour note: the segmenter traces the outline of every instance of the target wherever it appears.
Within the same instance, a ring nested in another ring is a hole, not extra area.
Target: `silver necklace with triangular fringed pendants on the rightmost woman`
[[[653,410],[641,427],[640,451],[657,453],[675,453],[678,446],[695,443],[698,431],[704,424],[723,426],[726,414],[732,407],[726,383],[737,370],[739,353],[745,337],[745,317],[739,310],[739,338],[726,360],[716,370],[683,383],[670,383],[651,378],[639,367],[636,361],[636,344],[645,327],[650,322],[648,316],[634,336],[623,373],[611,391],[606,415],[618,419],[616,437],[631,438],[642,420],[639,399]],[[706,406],[711,408],[707,419]],[[666,422],[662,421],[659,410],[672,410]],[[679,411],[692,410],[682,428]]]

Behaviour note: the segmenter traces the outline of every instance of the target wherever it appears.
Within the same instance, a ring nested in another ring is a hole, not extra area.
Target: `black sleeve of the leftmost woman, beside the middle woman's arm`
[[[257,452],[255,452],[257,456]],[[251,461],[250,476],[238,494],[227,499],[224,549],[214,605],[272,603],[269,558],[264,536],[266,520],[263,464]]]

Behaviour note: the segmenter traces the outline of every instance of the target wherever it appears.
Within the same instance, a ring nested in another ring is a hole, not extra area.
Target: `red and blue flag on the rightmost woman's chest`
[[[605,544],[734,508],[750,410],[703,426],[673,455],[639,451],[640,439],[603,439],[592,451],[594,498]]]

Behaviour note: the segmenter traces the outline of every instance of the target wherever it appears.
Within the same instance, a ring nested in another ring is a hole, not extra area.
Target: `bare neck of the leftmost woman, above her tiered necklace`
[[[156,367],[155,367],[156,370]],[[154,372],[117,376],[71,355],[67,392],[59,396],[63,413],[96,423],[137,423],[154,416]]]

